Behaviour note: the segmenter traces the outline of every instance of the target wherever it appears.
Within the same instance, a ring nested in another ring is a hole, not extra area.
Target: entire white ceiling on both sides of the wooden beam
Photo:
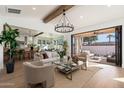
[[[8,14],[6,12],[6,7],[21,9],[22,13]],[[36,10],[32,10],[35,7]],[[54,10],[56,5],[40,5],[40,6],[0,6],[0,15],[3,16],[13,16],[13,17],[25,17],[25,18],[37,18],[39,20],[43,19],[44,16],[49,14]],[[105,5],[82,5],[74,6],[66,12],[67,17],[69,17],[71,23],[74,24],[75,28],[85,27],[88,25],[99,24],[119,18],[124,18],[124,6],[105,6]],[[55,25],[60,16],[52,20],[47,24]]]

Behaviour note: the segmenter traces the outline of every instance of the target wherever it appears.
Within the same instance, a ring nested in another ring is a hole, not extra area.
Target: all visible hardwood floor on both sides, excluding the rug
[[[82,88],[124,87],[124,68],[98,63],[89,63],[89,67],[100,67],[103,69],[96,72],[92,78],[82,85]],[[29,87],[22,78],[24,78],[23,65],[22,62],[17,62],[14,73],[6,74],[5,69],[0,72],[0,87]]]

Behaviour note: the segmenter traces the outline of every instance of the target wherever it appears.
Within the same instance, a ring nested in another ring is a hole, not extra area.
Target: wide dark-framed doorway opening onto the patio
[[[84,51],[90,52],[90,61],[121,67],[122,26],[71,35],[71,55],[79,55]]]

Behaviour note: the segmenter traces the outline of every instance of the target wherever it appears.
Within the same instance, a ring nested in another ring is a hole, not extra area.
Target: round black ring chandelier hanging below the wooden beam
[[[67,18],[64,9],[61,19],[59,20],[58,24],[55,25],[55,31],[59,33],[68,33],[74,31],[74,26]]]

